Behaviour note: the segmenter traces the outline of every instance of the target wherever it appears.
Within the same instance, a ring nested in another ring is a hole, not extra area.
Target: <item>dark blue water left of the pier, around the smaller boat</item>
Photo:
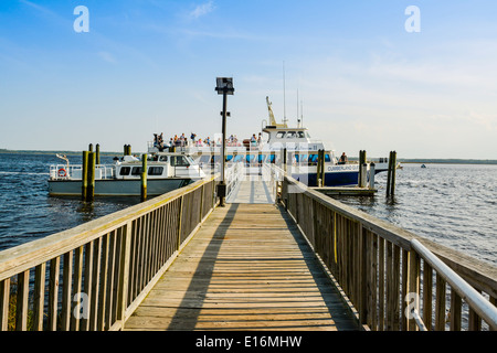
[[[68,156],[81,164],[80,156]],[[112,157],[102,157],[112,163]],[[50,164],[63,162],[54,154],[0,153],[0,250],[74,227],[139,202],[139,197],[50,197]]]

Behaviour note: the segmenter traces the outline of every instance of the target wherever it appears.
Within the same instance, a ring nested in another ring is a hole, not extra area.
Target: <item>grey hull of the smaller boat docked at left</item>
[[[147,195],[157,196],[183,188],[195,179],[167,178],[147,180]],[[77,196],[82,194],[81,180],[49,180],[49,195]],[[95,196],[140,196],[140,180],[95,180]]]

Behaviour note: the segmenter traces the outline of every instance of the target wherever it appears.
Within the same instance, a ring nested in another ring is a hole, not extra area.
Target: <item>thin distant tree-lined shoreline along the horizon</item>
[[[66,154],[66,156],[81,156],[82,152],[77,151],[39,151],[39,150],[7,150],[0,149],[0,153],[19,153],[19,154]],[[144,152],[136,152],[141,154]],[[102,156],[120,156],[123,152],[108,152],[101,151]],[[373,157],[372,160],[378,160],[379,158]],[[358,160],[357,157],[349,158],[351,161]],[[398,159],[400,163],[425,163],[425,164],[497,164],[497,160],[494,159],[453,159],[453,158],[401,158]]]

